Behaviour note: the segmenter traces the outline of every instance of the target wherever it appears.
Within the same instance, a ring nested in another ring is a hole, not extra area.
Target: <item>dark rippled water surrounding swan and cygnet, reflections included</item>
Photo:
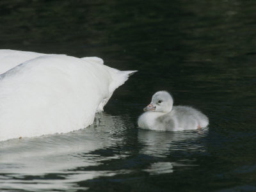
[[[0,49],[139,70],[86,129],[0,143],[1,191],[256,191],[256,2],[0,2]],[[138,129],[157,90],[210,119]]]

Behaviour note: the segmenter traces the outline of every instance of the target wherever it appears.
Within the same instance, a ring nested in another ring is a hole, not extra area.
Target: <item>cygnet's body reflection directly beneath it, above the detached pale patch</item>
[[[161,132],[139,129],[138,140],[143,143],[141,154],[147,154],[155,157],[166,157],[175,150],[204,152],[205,145],[201,143],[200,138],[207,136],[208,129],[200,131],[177,131]]]

